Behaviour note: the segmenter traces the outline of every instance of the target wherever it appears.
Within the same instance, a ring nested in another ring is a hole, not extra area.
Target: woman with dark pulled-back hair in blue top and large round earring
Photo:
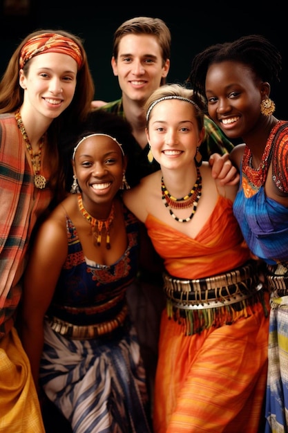
[[[266,433],[288,431],[288,122],[274,116],[270,98],[280,71],[277,48],[249,35],[196,55],[190,75],[215,123],[245,143],[230,155],[241,176],[233,212],[251,252],[265,262],[271,292]]]

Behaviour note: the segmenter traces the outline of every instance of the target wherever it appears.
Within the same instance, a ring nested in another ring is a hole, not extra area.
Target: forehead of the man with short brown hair
[[[162,57],[162,50],[157,37],[153,35],[124,35],[119,42],[118,55],[155,55]]]

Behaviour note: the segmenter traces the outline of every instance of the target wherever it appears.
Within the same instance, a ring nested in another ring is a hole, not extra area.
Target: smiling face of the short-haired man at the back
[[[169,59],[163,64],[162,51],[153,35],[125,35],[119,42],[113,73],[127,98],[146,101],[169,72]]]

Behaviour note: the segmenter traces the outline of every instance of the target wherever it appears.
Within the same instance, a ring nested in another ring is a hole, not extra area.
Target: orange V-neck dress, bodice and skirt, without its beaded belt
[[[232,203],[222,196],[195,239],[152,215],[145,224],[173,277],[207,278],[249,260]],[[208,317],[207,326],[190,335],[187,320],[191,316],[187,319],[179,314],[175,320],[170,307],[163,311],[155,378],[155,433],[258,432],[267,377],[268,293],[261,299],[242,304],[237,311],[230,305],[213,308],[214,316],[211,309],[202,310]]]

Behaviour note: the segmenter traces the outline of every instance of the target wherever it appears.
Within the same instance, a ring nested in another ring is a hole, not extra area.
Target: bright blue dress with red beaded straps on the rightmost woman
[[[265,433],[288,431],[288,208],[265,194],[272,166],[273,183],[288,194],[288,122],[271,130],[258,169],[251,167],[251,152],[243,155],[240,190],[233,203],[250,250],[267,264],[271,291]]]

